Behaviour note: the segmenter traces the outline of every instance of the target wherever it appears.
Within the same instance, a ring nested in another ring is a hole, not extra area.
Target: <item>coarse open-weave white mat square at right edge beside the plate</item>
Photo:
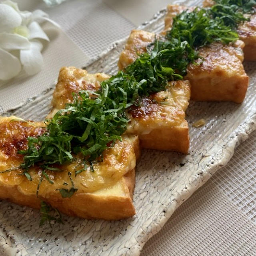
[[[229,164],[212,181],[256,224],[256,132],[235,151]]]

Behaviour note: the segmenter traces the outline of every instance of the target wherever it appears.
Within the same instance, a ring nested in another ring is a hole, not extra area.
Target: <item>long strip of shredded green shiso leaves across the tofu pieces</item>
[[[254,0],[216,0],[211,8],[184,11],[173,19],[172,29],[164,38],[154,41],[147,52],[124,72],[120,71],[101,83],[97,92],[80,91],[74,102],[58,111],[52,120],[46,120],[47,129],[37,138],[28,137],[28,149],[20,168],[28,180],[31,166],[40,166],[42,177],[52,183],[46,170],[60,171],[53,164],[74,161],[74,154],[82,153],[84,160],[100,160],[102,152],[121,140],[128,122],[126,111],[140,98],[166,88],[168,81],[180,80],[186,75],[189,63],[199,58],[198,48],[221,42],[228,44],[238,39],[236,27],[248,20],[244,13],[252,12]],[[203,61],[203,60],[202,60]],[[78,170],[76,174],[81,172]],[[70,175],[71,179],[71,175]],[[70,197],[76,188],[59,189],[63,197]],[[40,184],[38,185],[39,189]],[[50,206],[42,203],[42,223],[52,220]]]

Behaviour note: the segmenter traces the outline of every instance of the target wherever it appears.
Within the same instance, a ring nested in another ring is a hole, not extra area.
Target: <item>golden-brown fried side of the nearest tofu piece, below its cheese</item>
[[[116,183],[116,189],[112,186],[108,190],[98,193],[76,192],[71,198],[62,198],[56,191],[47,196],[42,194],[39,197],[36,194],[24,195],[18,186],[0,182],[0,198],[36,209],[40,208],[40,200],[43,200],[70,216],[119,220],[135,214],[132,202],[134,184],[135,169],[132,169]]]

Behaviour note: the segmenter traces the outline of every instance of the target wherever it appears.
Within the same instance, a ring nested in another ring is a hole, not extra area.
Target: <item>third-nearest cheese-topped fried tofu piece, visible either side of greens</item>
[[[171,29],[172,18],[185,9],[184,6],[167,6],[165,31]],[[191,84],[191,99],[242,103],[249,82],[242,64],[243,48],[244,43],[240,40],[234,44],[212,43],[201,47],[199,55],[203,57],[203,62],[189,64],[185,76]]]

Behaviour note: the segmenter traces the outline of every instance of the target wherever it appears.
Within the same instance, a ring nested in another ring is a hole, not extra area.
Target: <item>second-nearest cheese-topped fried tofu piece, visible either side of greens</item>
[[[153,38],[151,39],[153,40]],[[136,52],[133,54],[131,56],[136,56]],[[130,59],[126,63],[132,61]],[[88,74],[86,70],[74,67],[62,68],[53,94],[53,109],[48,118],[63,108],[66,99],[68,99],[67,102],[70,102],[71,92],[74,91],[74,88],[77,92],[82,88],[98,90],[102,79],[108,77],[106,74],[100,73]],[[73,89],[70,90],[70,87]],[[165,91],[142,98],[139,107],[132,106],[127,112],[131,121],[126,134],[138,135],[143,148],[187,153],[189,147],[188,124],[184,117],[189,98],[190,84],[188,81],[170,82]]]

